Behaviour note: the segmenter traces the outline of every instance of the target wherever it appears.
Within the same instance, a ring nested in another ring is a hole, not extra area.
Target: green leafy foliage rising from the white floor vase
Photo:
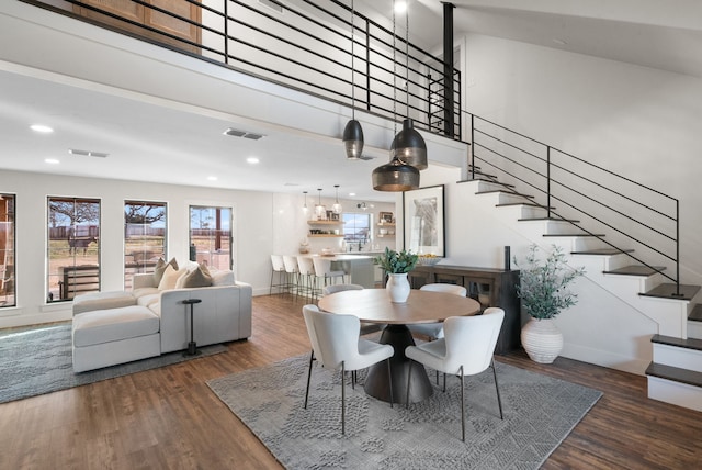
[[[519,266],[514,257],[514,265],[520,268],[517,294],[529,315],[553,318],[578,302],[578,295],[568,286],[585,273],[585,268],[570,268],[563,248],[555,245],[545,260],[539,258],[537,250],[536,245],[530,247],[524,266]]]

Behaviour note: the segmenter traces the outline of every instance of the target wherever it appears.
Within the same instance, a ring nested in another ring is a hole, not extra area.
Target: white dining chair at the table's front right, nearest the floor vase
[[[476,376],[488,367],[492,368],[497,404],[502,415],[502,400],[495,370],[495,346],[500,334],[505,311],[498,307],[486,309],[483,315],[451,316],[444,324],[444,337],[419,346],[408,346],[405,355],[419,363],[444,373],[444,392],[446,376],[461,378],[461,439],[465,441],[465,388],[464,377]],[[409,406],[409,384],[411,367],[407,374],[407,404]]]

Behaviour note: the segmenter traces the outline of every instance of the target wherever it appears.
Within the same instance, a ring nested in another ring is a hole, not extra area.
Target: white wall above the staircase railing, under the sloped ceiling
[[[462,44],[467,111],[679,199],[682,281],[702,283],[702,80],[483,35]]]

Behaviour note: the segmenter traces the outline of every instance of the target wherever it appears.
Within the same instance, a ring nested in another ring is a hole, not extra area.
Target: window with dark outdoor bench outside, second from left
[[[48,198],[47,302],[100,290],[100,201]]]

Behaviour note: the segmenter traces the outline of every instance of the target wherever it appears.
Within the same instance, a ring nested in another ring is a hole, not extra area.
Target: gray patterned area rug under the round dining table
[[[449,378],[446,393],[434,384],[429,400],[409,409],[348,385],[342,436],[339,372],[315,365],[303,409],[308,360],[298,356],[207,382],[288,469],[537,469],[602,395],[498,362],[505,419],[492,372],[466,378],[464,444],[460,379]]]

